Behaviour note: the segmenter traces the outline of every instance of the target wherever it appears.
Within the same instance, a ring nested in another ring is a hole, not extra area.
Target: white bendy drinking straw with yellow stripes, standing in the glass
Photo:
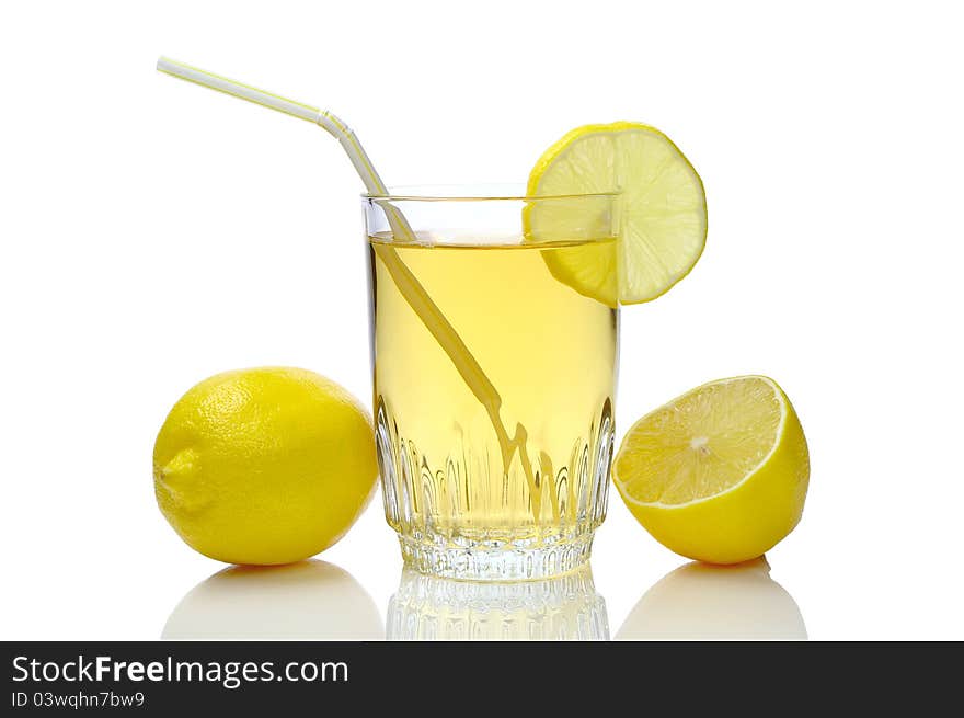
[[[412,231],[402,213],[387,202],[386,198],[389,193],[386,184],[375,170],[371,160],[368,159],[362,143],[358,141],[355,133],[333,113],[303,102],[283,98],[273,92],[259,90],[243,82],[229,80],[220,75],[215,75],[184,62],[177,62],[167,57],[158,59],[158,70],[181,80],[194,82],[210,90],[217,90],[218,92],[223,92],[225,94],[230,94],[234,98],[240,98],[241,100],[246,100],[263,107],[321,126],[341,143],[342,148],[358,172],[358,176],[362,178],[365,189],[368,190],[368,194],[372,195],[376,202],[379,202],[379,197],[382,198],[379,204],[386,210],[393,235],[405,241],[415,241],[415,232]],[[466,385],[485,408],[502,449],[503,470],[506,474],[508,474],[513,454],[515,451],[519,452],[523,470],[531,489],[533,510],[538,511],[540,497],[536,491],[532,465],[526,449],[527,434],[525,426],[516,424],[515,435],[512,437],[508,435],[508,431],[506,431],[500,415],[502,397],[500,397],[498,391],[485,375],[485,372],[479,366],[479,363],[472,356],[461,337],[459,337],[458,332],[456,332],[455,328],[438,308],[438,305],[428,296],[425,287],[422,286],[412,271],[401,260],[393,247],[382,242],[372,242],[372,248],[378,253],[405,301],[409,303],[418,316],[418,319],[422,320],[422,323],[425,324],[425,328],[428,329],[449,360],[451,360]],[[551,485],[552,481],[549,481],[549,483]]]

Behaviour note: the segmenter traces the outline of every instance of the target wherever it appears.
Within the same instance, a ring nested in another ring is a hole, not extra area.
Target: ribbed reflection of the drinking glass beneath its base
[[[389,640],[608,640],[606,602],[586,566],[513,583],[402,571],[388,606]]]

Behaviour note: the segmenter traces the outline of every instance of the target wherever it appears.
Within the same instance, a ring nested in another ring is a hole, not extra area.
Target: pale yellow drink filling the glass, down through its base
[[[386,515],[417,568],[532,578],[588,558],[606,512],[618,317],[549,269],[552,253],[585,243],[369,238]],[[380,253],[389,247],[495,402],[480,400],[399,290]]]

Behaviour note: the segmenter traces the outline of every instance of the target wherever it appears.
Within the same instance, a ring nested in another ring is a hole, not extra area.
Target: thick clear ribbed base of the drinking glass
[[[544,539],[526,546],[520,542],[464,542],[433,544],[399,536],[405,565],[445,579],[466,581],[519,581],[567,573],[589,560],[593,534],[584,533],[558,543]]]

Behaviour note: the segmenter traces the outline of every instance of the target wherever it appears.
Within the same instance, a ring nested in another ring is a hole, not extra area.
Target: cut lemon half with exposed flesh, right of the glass
[[[738,563],[796,526],[810,455],[783,390],[743,376],[704,384],[640,419],[612,471],[626,505],[661,544]]]

